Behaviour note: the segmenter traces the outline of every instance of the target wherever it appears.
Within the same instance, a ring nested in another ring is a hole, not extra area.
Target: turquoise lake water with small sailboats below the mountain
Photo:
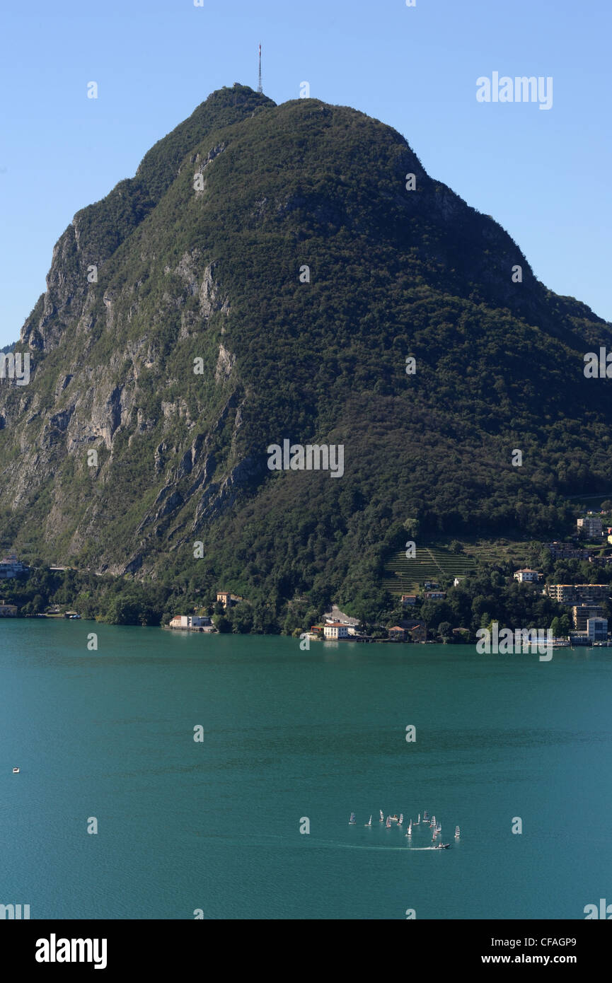
[[[607,649],[301,652],[4,620],[0,903],[31,918],[583,918],[612,891],[611,688]],[[380,808],[435,813],[451,849],[415,848],[422,828],[409,848]]]

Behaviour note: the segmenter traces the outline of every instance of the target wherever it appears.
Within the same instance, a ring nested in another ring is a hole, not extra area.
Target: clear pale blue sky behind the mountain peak
[[[612,319],[610,0],[7,0],[1,26],[0,345],[74,213],[215,88],[256,88],[260,40],[276,102],[308,81],[395,127],[547,286]],[[552,76],[552,108],[478,103],[493,72]]]

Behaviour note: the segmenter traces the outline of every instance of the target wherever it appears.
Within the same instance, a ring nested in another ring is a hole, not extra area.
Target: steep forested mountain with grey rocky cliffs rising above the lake
[[[566,495],[612,487],[608,383],[583,373],[611,344],[392,128],[222,88],[53,251],[31,381],[0,381],[3,540],[372,601],[408,535],[559,535]],[[271,471],[283,439],[342,445],[341,478]]]

